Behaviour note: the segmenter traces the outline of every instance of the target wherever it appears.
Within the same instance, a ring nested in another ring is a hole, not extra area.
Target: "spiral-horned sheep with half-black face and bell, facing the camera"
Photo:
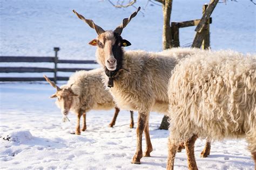
[[[140,9],[140,8],[139,8]],[[156,111],[167,114],[169,100],[167,84],[171,70],[180,58],[197,53],[200,49],[177,48],[164,52],[124,51],[131,43],[120,34],[139,9],[125,18],[114,31],[104,31],[91,19],[86,19],[75,10],[79,19],[95,29],[98,37],[89,42],[97,46],[96,58],[105,70],[103,82],[110,88],[114,101],[121,109],[138,110],[137,150],[132,164],[140,164],[140,159],[150,157],[152,144],[149,134],[149,114]],[[146,151],[142,152],[142,136],[145,132]]]

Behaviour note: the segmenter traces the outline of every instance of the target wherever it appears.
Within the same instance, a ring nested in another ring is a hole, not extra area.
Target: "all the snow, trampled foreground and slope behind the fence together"
[[[208,1],[174,1],[171,20],[199,19],[204,3]],[[161,51],[161,6],[148,4],[145,7],[146,1],[137,2],[136,6],[139,5],[145,10],[142,9],[143,13],[139,12],[122,33],[123,38],[132,43],[126,49]],[[79,20],[72,9],[93,19],[105,30],[114,29],[134,11],[134,8],[114,9],[107,1],[2,0],[0,55],[53,56],[52,48],[58,46],[59,59],[95,60],[95,48],[87,42],[97,36],[96,32]],[[212,49],[230,48],[242,53],[255,53],[255,9],[253,3],[245,0],[218,4],[210,26]],[[191,44],[194,29],[180,29],[182,46]],[[8,63],[0,63],[0,67],[6,65]],[[21,65],[26,66],[25,63],[14,63],[12,66]],[[40,67],[49,65],[35,63]],[[34,65],[29,63],[29,66]],[[154,112],[150,115],[152,157],[142,158],[142,165],[133,165],[130,162],[136,151],[136,130],[129,128],[129,111],[120,111],[114,128],[108,127],[114,110],[91,111],[87,114],[87,130],[77,136],[70,134],[75,129],[76,116],[71,114],[70,122],[63,123],[60,110],[49,98],[53,93],[55,89],[47,83],[0,83],[1,169],[165,169],[169,132],[158,130],[163,115]],[[136,118],[137,112],[134,112]],[[215,141],[210,156],[200,158],[204,144],[205,140],[196,142],[199,169],[254,169],[244,139]],[[184,151],[177,153],[174,169],[187,169]]]

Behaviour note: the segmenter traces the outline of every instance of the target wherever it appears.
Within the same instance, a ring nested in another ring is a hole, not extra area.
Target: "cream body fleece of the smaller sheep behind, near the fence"
[[[115,107],[113,97],[104,88],[101,75],[103,69],[93,69],[89,71],[78,71],[70,76],[67,84],[60,88],[68,88],[72,85],[71,89],[77,97],[73,97],[71,111],[88,112],[90,110],[109,110]],[[58,104],[58,100],[56,100]]]

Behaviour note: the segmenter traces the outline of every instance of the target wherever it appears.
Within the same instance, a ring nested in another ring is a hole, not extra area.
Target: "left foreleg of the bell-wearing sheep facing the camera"
[[[142,158],[142,135],[146,126],[146,122],[149,117],[149,112],[139,112],[137,123],[137,148],[134,157],[132,158],[132,164],[140,164]]]

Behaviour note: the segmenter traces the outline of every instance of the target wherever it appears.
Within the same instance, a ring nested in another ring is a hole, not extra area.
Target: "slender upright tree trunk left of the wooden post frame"
[[[172,33],[171,33],[171,11],[172,11],[172,0],[165,0],[163,2],[163,49],[168,49],[173,47],[172,43]]]

